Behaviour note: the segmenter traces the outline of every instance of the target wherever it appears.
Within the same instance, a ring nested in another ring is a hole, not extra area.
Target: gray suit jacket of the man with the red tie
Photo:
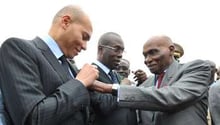
[[[162,88],[121,86],[119,105],[155,111],[155,125],[207,125],[210,75],[210,66],[205,61],[184,65],[174,61],[166,70]],[[150,79],[146,82],[154,84]]]

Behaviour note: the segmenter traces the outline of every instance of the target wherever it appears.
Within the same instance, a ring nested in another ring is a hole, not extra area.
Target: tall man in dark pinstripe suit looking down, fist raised
[[[86,125],[87,87],[98,70],[85,64],[76,75],[66,58],[86,50],[91,34],[89,17],[69,5],[54,16],[48,35],[3,43],[0,83],[14,125]]]

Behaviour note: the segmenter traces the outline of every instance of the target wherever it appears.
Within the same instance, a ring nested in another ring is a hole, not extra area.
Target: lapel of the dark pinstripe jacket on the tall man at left
[[[68,77],[64,75],[65,71],[61,67],[58,59],[55,57],[55,55],[52,53],[49,47],[44,43],[44,41],[41,40],[39,37],[37,37],[33,40],[33,43],[35,44],[37,48],[41,50],[43,56],[47,59],[50,65],[54,68],[54,70],[60,76],[62,81],[63,82],[67,81]]]

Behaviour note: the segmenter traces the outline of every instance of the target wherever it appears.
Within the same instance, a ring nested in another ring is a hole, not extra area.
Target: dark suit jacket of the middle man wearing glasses
[[[99,66],[98,70],[98,80],[112,84],[108,75]],[[95,125],[137,125],[135,110],[118,108],[116,96],[93,92],[91,98],[92,107],[95,111]]]

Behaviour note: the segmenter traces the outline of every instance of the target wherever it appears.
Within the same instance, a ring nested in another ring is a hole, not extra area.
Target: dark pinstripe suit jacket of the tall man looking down
[[[10,38],[0,60],[2,94],[15,125],[85,125],[89,93],[80,81],[63,75],[44,41]]]

